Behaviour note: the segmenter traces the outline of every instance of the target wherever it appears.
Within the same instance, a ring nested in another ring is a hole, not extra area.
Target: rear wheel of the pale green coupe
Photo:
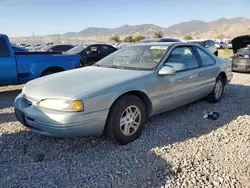
[[[207,96],[209,102],[219,102],[224,92],[225,82],[221,76],[218,76],[215,82],[214,90]]]

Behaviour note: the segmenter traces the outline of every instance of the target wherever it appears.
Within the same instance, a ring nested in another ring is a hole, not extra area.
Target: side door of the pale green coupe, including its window
[[[159,105],[156,113],[182,106],[201,98],[203,85],[200,64],[190,46],[176,47],[165,66],[176,70],[175,76],[157,78],[156,95]]]

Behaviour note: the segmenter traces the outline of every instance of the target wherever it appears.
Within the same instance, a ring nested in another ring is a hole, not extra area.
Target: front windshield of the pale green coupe
[[[153,70],[160,63],[167,49],[167,45],[127,46],[112,53],[95,65],[111,68]]]

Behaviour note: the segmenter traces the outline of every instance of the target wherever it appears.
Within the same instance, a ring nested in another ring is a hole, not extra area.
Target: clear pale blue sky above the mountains
[[[250,18],[250,0],[0,0],[0,33],[30,36],[86,27],[156,24],[193,19]]]

